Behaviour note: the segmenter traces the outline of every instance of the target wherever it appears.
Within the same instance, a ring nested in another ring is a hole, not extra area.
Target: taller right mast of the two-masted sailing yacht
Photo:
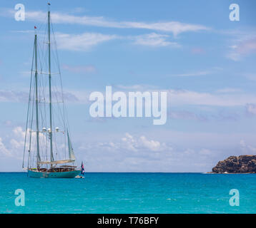
[[[48,4],[49,5],[49,4]],[[48,10],[48,61],[49,61],[49,110],[50,110],[50,151],[51,151],[51,162],[54,161],[54,154],[52,151],[52,111],[51,111],[51,29],[50,29],[50,10]]]

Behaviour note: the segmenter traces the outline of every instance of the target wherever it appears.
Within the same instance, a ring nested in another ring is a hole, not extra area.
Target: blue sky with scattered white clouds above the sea
[[[240,6],[230,21],[229,6]],[[25,21],[14,6],[24,4]],[[2,1],[0,171],[21,171],[34,25],[46,1]],[[51,1],[74,150],[88,172],[207,172],[256,151],[255,1]],[[89,94],[167,90],[165,125],[91,118]]]

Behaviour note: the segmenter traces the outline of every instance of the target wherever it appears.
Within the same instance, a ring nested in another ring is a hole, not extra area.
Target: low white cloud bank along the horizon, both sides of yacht
[[[0,138],[3,158],[0,161],[1,171],[20,170],[21,167],[24,131],[16,127],[13,133],[5,140]],[[91,139],[87,137],[87,142],[82,137],[76,143],[77,146],[82,143],[76,150],[76,157],[79,161],[85,161],[87,171],[90,172],[206,172],[218,160],[240,154],[240,151],[234,150],[233,145],[237,146],[237,138],[241,139],[241,134],[181,133],[168,130],[137,135],[126,133],[123,138],[119,134],[114,136],[102,133],[104,139],[100,133],[95,134],[91,135]],[[255,138],[250,135],[250,140],[245,134],[242,137],[250,142]],[[171,146],[172,142],[176,145]],[[255,151],[255,147],[245,142],[241,142],[241,145],[245,148],[245,154]]]

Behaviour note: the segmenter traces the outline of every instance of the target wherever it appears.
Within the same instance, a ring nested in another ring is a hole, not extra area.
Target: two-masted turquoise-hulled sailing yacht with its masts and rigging
[[[41,42],[34,27],[22,167],[29,177],[73,178],[81,170],[75,165],[49,6],[46,20]]]

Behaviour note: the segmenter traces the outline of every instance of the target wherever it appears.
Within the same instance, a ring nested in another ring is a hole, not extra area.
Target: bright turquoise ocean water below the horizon
[[[0,213],[256,213],[256,175],[86,173],[84,179],[32,179],[0,172]],[[25,205],[14,203],[16,189]],[[230,190],[239,206],[230,206]]]

